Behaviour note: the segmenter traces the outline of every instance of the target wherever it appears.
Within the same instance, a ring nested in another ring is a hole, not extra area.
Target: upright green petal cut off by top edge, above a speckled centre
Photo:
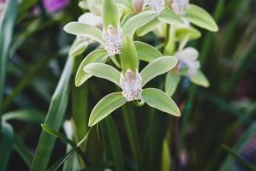
[[[103,0],[103,21],[104,29],[107,29],[110,25],[118,27],[119,15],[114,0]]]

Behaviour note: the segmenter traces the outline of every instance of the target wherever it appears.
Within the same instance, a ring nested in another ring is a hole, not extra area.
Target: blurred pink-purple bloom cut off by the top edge
[[[4,1],[4,0],[0,0]],[[45,9],[48,13],[63,9],[68,5],[68,0],[43,0]]]

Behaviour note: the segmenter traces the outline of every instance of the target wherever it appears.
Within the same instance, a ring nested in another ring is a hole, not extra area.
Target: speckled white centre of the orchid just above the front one
[[[103,33],[103,39],[105,42],[105,49],[108,51],[110,56],[121,53],[123,33],[122,28],[116,30],[115,27],[109,26],[107,31]]]

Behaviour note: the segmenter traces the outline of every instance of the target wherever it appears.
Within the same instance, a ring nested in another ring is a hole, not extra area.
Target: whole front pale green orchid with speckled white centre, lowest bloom
[[[170,115],[180,115],[176,103],[164,91],[155,88],[143,89],[147,82],[174,68],[177,62],[175,57],[160,56],[150,62],[139,73],[139,58],[134,42],[130,36],[125,36],[122,44],[121,61],[121,72],[110,65],[99,62],[89,63],[84,68],[86,73],[110,80],[122,89],[122,92],[115,92],[104,97],[92,109],[89,119],[90,127],[110,115],[111,112],[121,107],[124,103],[130,101],[137,102],[139,100],[140,102],[137,103],[143,104],[145,102],[152,108],[159,109]]]

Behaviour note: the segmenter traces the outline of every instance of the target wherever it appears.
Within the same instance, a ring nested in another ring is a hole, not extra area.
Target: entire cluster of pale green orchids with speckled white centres
[[[200,70],[198,50],[187,47],[189,41],[201,36],[195,27],[211,32],[218,30],[205,9],[188,0],[84,0],[79,6],[89,12],[64,27],[76,36],[69,56],[81,55],[88,44],[95,42],[98,48],[80,63],[75,85],[80,86],[95,76],[110,80],[121,90],[96,104],[90,115],[90,127],[131,101],[137,106],[147,103],[167,114],[180,116],[171,97],[181,78],[209,86]],[[164,39],[159,48],[140,41],[149,32]],[[140,61],[148,62],[145,68],[140,68]],[[143,88],[160,74],[166,74],[164,91]]]

